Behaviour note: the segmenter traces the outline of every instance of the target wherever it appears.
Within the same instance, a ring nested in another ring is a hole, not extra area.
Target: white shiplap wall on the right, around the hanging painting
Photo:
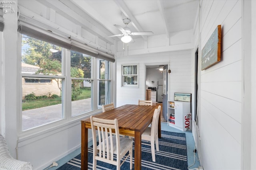
[[[200,19],[201,48],[222,26],[222,59],[200,71],[200,162],[204,169],[240,169],[242,1],[202,1]]]

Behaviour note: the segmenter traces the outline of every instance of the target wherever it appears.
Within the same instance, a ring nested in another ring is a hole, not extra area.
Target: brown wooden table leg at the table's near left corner
[[[81,124],[81,170],[88,169],[88,129]]]

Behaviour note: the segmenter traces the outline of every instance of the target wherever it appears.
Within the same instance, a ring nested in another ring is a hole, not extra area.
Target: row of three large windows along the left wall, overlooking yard
[[[111,102],[112,62],[21,37],[22,131],[70,121]]]

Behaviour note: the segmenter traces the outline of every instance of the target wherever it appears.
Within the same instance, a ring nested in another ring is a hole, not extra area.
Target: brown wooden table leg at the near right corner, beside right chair
[[[134,134],[134,170],[141,170],[141,134],[135,131]]]

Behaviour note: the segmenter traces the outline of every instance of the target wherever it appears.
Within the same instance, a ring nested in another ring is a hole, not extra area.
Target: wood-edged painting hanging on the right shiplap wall
[[[202,49],[201,70],[220,62],[221,25],[214,30]]]

